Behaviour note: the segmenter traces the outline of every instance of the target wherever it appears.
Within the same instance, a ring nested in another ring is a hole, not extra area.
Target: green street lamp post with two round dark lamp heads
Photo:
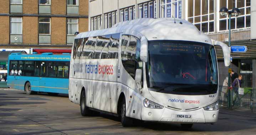
[[[231,46],[230,38],[231,38],[231,15],[232,16],[239,16],[241,14],[240,10],[237,8],[232,9],[232,11],[229,11],[226,7],[222,7],[220,9],[220,15],[221,16],[227,16],[229,15],[229,47]],[[230,65],[229,65],[230,68]],[[229,80],[228,80],[228,108],[231,108],[231,91],[230,91],[230,73],[228,74]]]

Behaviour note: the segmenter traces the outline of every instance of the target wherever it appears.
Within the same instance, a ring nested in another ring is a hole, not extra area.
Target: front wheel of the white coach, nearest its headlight
[[[133,125],[133,119],[126,116],[126,101],[123,100],[121,104],[121,123],[123,127],[126,126],[132,126]]]

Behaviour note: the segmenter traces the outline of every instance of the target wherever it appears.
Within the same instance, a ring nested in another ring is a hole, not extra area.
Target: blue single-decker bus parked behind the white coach
[[[8,87],[27,94],[68,94],[70,54],[12,53],[8,60]]]

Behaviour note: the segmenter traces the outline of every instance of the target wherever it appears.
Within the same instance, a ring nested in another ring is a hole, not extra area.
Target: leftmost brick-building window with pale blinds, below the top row
[[[22,17],[11,17],[11,34],[22,35]]]

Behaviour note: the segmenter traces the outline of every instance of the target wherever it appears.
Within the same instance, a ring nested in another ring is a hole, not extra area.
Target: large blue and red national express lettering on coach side
[[[102,78],[104,77],[105,74],[107,75],[112,75],[114,73],[113,70],[113,65],[111,64],[89,64],[85,65],[85,73],[87,74],[102,74]]]

